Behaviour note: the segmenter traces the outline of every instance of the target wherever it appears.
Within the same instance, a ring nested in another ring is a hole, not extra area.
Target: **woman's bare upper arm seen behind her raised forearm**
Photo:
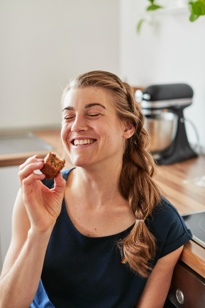
[[[29,229],[30,220],[22,201],[21,189],[19,189],[12,215],[11,243],[6,254],[0,280],[10,271],[12,265],[21,252],[21,249],[27,239]]]

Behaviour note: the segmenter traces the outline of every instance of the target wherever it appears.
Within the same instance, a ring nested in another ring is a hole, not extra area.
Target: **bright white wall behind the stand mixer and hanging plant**
[[[205,16],[191,23],[188,9],[183,14],[156,15],[156,25],[143,24],[137,35],[139,15],[148,4],[120,0],[120,75],[132,85],[190,84],[194,99],[185,116],[194,122],[205,147]],[[160,4],[171,7],[179,1],[161,0]],[[187,129],[190,142],[195,143],[193,130]]]

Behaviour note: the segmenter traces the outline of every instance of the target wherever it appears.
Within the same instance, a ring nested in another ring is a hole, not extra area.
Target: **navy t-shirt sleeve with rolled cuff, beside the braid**
[[[156,237],[157,259],[178,249],[191,240],[191,230],[171,203],[162,197],[162,201],[153,215],[152,229]]]

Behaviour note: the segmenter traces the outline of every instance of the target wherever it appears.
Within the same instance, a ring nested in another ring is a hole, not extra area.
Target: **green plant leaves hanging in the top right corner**
[[[149,5],[146,9],[146,11],[153,11],[153,10],[158,10],[162,9],[163,7],[160,5],[156,4],[157,0],[148,0],[151,2],[151,5]],[[199,16],[205,15],[205,0],[197,0],[197,1],[189,1],[189,10],[191,12],[189,20],[191,22],[194,22]],[[137,23],[137,33],[140,33],[141,26],[145,22],[145,19],[142,18],[139,20]],[[153,22],[149,22],[149,24],[153,24]]]

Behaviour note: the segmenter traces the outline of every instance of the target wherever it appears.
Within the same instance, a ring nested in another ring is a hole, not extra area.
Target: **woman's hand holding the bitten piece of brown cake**
[[[52,228],[61,212],[66,181],[59,173],[54,178],[54,188],[47,188],[40,180],[45,174],[35,174],[34,170],[43,167],[43,160],[37,155],[30,157],[20,165],[18,172],[24,201],[31,229],[44,232]]]

